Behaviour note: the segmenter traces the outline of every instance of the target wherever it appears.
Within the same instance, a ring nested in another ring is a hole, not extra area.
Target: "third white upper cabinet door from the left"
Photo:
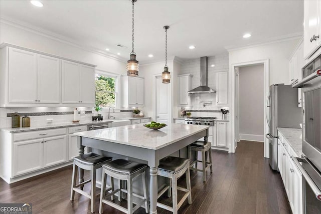
[[[80,103],[80,66],[78,63],[62,61],[62,103]]]

